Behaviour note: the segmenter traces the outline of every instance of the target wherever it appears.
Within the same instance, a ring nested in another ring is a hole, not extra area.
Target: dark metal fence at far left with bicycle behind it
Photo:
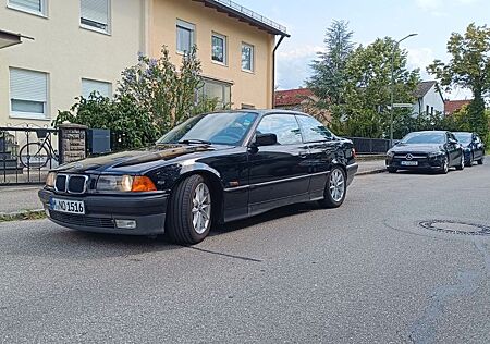
[[[0,185],[41,184],[60,162],[59,131],[0,127]]]

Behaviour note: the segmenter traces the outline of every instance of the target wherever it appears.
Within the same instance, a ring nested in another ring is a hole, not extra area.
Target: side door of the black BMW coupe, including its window
[[[250,213],[308,200],[308,150],[294,114],[265,115],[256,134],[275,134],[278,143],[248,149]]]

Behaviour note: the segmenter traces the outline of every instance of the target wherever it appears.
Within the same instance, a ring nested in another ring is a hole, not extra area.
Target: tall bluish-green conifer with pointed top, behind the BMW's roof
[[[326,52],[318,52],[318,60],[311,63],[313,76],[306,82],[319,98],[316,106],[331,113],[331,126],[336,132],[341,131],[342,118],[339,105],[345,101],[345,65],[354,49],[352,35],[347,22],[333,21],[324,38]]]

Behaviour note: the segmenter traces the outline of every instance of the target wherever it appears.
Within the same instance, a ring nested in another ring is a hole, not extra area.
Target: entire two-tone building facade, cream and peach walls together
[[[109,34],[81,26],[79,0],[46,0],[46,16],[29,14],[0,0],[0,29],[35,40],[0,49],[0,126],[50,126],[58,110],[68,110],[82,94],[82,78],[109,82],[112,91],[121,71],[136,63],[137,52],[160,56],[163,45],[172,61],[176,21],[196,26],[195,41],[206,77],[231,83],[233,108],[272,107],[272,50],[275,37],[225,13],[192,0],[110,0]],[[211,61],[211,35],[228,39],[228,65]],[[254,72],[242,71],[242,42],[254,46]],[[10,105],[10,67],[48,74],[47,118],[15,116]]]

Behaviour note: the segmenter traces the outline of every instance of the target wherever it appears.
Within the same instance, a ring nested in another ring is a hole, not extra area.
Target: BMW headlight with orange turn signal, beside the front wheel
[[[142,193],[155,192],[154,182],[147,176],[140,175],[101,175],[97,181],[99,192]]]

